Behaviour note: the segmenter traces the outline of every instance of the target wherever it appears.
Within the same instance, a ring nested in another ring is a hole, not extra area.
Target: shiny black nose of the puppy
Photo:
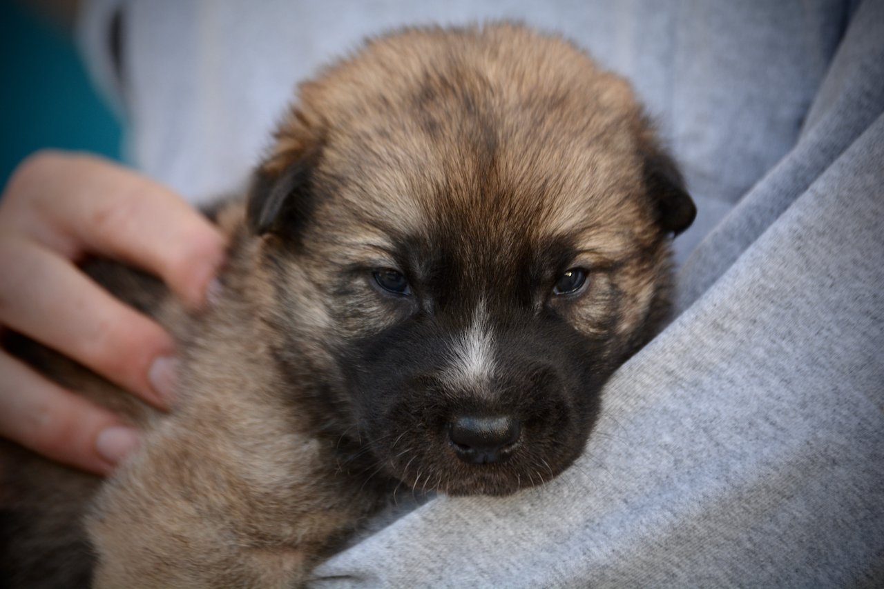
[[[448,436],[454,451],[464,462],[502,462],[512,453],[521,427],[511,417],[463,416],[452,420]]]

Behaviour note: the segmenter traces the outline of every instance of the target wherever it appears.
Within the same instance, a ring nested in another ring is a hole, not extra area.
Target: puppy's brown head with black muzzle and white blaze
[[[380,469],[453,495],[578,456],[692,218],[629,87],[514,26],[388,37],[302,86],[249,203],[312,348],[283,361],[335,383]]]

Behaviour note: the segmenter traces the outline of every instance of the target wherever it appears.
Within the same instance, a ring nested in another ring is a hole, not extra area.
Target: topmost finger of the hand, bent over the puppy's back
[[[64,236],[65,249],[82,245],[126,261],[160,276],[188,305],[202,305],[225,238],[177,194],[91,155],[42,154],[22,168],[7,192],[27,193],[33,233],[45,245],[61,249]]]

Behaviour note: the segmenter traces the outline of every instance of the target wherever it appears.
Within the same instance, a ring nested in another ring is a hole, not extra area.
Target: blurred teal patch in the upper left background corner
[[[0,185],[42,147],[119,159],[119,122],[70,35],[13,0],[0,0],[0,80]]]

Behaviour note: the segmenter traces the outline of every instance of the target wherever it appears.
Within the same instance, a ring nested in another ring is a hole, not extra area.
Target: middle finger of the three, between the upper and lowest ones
[[[72,262],[16,236],[0,236],[0,276],[0,324],[168,407],[171,383],[164,371],[174,344],[163,328]]]

